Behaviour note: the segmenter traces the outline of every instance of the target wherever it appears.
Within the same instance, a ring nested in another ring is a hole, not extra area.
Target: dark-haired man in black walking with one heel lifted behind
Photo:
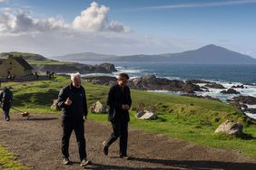
[[[103,141],[103,154],[108,155],[108,148],[120,137],[120,157],[127,159],[129,109],[132,105],[130,89],[127,86],[129,76],[120,73],[117,84],[109,90],[107,105],[110,107],[108,119],[112,123],[113,133]]]

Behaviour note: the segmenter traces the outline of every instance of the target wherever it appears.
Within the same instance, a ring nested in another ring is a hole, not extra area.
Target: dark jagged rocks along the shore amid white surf
[[[84,77],[84,80],[90,83],[95,84],[103,84],[111,86],[116,83],[115,77],[110,76],[91,76]],[[201,85],[199,85],[201,84]],[[233,104],[238,109],[244,112],[250,112],[252,114],[256,114],[256,108],[249,108],[247,105],[256,105],[256,98],[251,96],[242,96],[237,89],[245,89],[245,85],[237,85],[232,86],[228,90],[224,90],[226,88],[223,87],[222,84],[205,81],[205,80],[168,80],[165,78],[157,78],[154,75],[143,76],[141,78],[133,78],[129,80],[129,87],[134,90],[167,90],[167,91],[175,91],[182,92],[182,95],[194,97],[194,98],[202,98],[202,99],[212,99],[221,101],[221,99],[213,98],[209,95],[198,95],[197,92],[200,91],[209,91],[210,89],[221,90],[220,92],[225,94],[236,94],[239,96],[234,96],[231,99],[228,99],[227,102]],[[236,89],[236,90],[234,90]]]

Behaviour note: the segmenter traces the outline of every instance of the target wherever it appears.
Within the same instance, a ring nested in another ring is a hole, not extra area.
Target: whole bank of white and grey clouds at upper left
[[[46,19],[34,18],[29,10],[0,8],[1,33],[46,33],[53,31],[73,32],[115,32],[130,33],[130,27],[117,21],[109,22],[109,8],[93,2],[81,15],[74,18],[73,24],[67,24],[62,16]]]

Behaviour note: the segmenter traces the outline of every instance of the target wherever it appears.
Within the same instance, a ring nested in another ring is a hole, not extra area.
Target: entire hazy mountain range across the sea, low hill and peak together
[[[135,62],[172,62],[172,63],[200,63],[200,64],[256,64],[256,59],[232,52],[217,45],[206,45],[200,49],[186,52],[165,53],[155,55],[104,55],[94,52],[74,53],[53,57],[61,61],[135,61]]]

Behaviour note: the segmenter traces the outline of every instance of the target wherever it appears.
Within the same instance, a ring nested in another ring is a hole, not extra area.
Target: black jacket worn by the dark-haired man
[[[118,84],[113,85],[109,90],[107,105],[110,107],[108,120],[118,121],[120,118],[124,118],[125,121],[130,121],[129,112],[126,109],[122,109],[122,105],[129,105],[131,108],[132,99],[131,92],[128,86],[124,86],[123,89]]]

